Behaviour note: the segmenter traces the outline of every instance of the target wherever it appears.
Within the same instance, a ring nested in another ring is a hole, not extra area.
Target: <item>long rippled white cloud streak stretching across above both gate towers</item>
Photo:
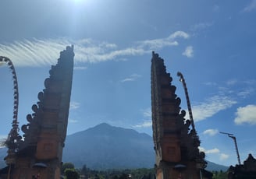
[[[0,54],[12,60],[16,66],[41,66],[55,64],[59,52],[67,45],[74,44],[75,63],[123,60],[129,56],[151,53],[166,46],[176,46],[176,39],[187,39],[188,33],[176,31],[169,37],[134,42],[130,47],[119,48],[117,44],[91,39],[72,40],[68,38],[32,39],[0,44]],[[76,68],[82,69],[82,68]],[[83,68],[84,69],[84,68]]]

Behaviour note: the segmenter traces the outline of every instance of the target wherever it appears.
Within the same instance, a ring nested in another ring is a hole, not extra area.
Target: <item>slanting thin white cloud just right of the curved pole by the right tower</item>
[[[229,97],[223,97],[218,95],[211,97],[205,102],[194,105],[192,107],[194,121],[201,121],[206,118],[210,118],[214,114],[217,114],[219,111],[223,111],[229,107],[232,107],[233,104],[236,104],[236,101],[232,100]]]

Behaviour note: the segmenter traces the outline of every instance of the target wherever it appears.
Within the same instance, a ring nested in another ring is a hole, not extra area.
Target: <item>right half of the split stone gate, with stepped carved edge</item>
[[[176,86],[166,72],[164,61],[153,52],[151,59],[151,110],[157,179],[201,178],[204,153],[190,120],[180,111]]]

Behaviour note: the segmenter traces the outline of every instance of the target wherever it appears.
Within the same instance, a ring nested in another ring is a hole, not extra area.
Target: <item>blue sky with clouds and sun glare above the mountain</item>
[[[74,44],[68,134],[102,122],[152,135],[151,51],[165,59],[206,159],[237,163],[256,156],[256,1],[55,0],[0,2],[0,55],[12,59],[20,90],[20,126],[44,89],[59,52]],[[0,66],[0,135],[12,121],[12,76]]]

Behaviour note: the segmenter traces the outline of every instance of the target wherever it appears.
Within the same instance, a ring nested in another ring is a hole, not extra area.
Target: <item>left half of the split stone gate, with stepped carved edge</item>
[[[66,139],[69,102],[73,80],[73,46],[60,52],[57,65],[52,65],[45,89],[38,93],[38,102],[27,115],[22,126],[23,140],[13,141],[16,149],[9,149],[1,170],[1,178],[59,179],[62,149]],[[13,153],[14,152],[14,153]]]

